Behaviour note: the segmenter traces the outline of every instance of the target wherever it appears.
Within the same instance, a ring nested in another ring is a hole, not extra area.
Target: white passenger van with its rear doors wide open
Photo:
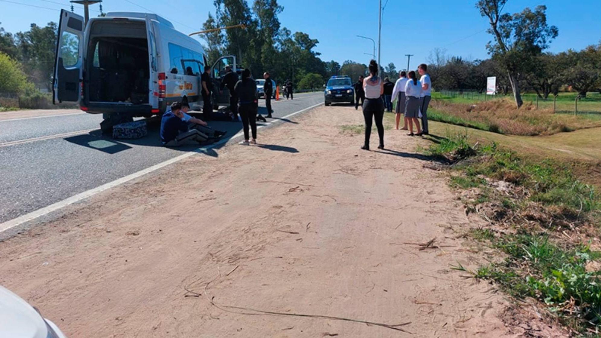
[[[213,106],[229,103],[219,85],[235,56],[212,65]],[[207,58],[200,42],[156,14],[112,12],[84,18],[61,10],[53,103],[76,102],[88,113],[162,114],[174,101],[203,106],[200,75]],[[106,116],[106,115],[105,115]]]

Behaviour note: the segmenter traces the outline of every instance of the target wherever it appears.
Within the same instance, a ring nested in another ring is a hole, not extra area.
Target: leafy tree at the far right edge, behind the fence
[[[565,54],[571,67],[563,73],[565,82],[578,91],[581,97],[586,97],[588,91],[599,88],[601,82],[601,43],[588,46],[580,52],[568,50]]]

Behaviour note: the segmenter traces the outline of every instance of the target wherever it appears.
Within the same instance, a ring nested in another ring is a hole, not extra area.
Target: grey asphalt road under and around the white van
[[[294,100],[272,102],[274,118],[281,118],[323,103],[323,94],[297,94]],[[260,100],[259,112],[266,115],[264,100]],[[195,148],[162,146],[158,119],[148,120],[148,135],[136,140],[102,136],[100,121],[102,115],[87,113],[0,120],[0,223]],[[228,137],[242,130],[242,122],[209,124],[227,130]],[[218,149],[213,155],[219,155]]]

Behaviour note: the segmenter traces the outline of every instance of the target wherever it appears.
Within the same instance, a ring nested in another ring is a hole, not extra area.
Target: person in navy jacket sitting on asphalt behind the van
[[[186,106],[188,103],[185,103]],[[209,136],[198,129],[189,129],[183,121],[182,103],[171,104],[171,109],[163,114],[160,121],[160,140],[165,146],[180,146],[186,143],[203,143],[216,140],[214,133]],[[200,121],[200,120],[199,120]],[[204,121],[202,121],[204,122]]]

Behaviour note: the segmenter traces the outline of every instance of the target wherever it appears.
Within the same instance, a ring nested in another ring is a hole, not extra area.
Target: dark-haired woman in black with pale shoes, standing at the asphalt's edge
[[[258,110],[257,83],[251,78],[251,71],[248,68],[242,71],[242,80],[236,83],[234,91],[236,91],[238,97],[238,113],[242,118],[242,125],[244,127],[244,140],[240,144],[249,144],[249,125],[252,131],[251,142],[252,144],[257,144],[257,119],[255,118]]]

